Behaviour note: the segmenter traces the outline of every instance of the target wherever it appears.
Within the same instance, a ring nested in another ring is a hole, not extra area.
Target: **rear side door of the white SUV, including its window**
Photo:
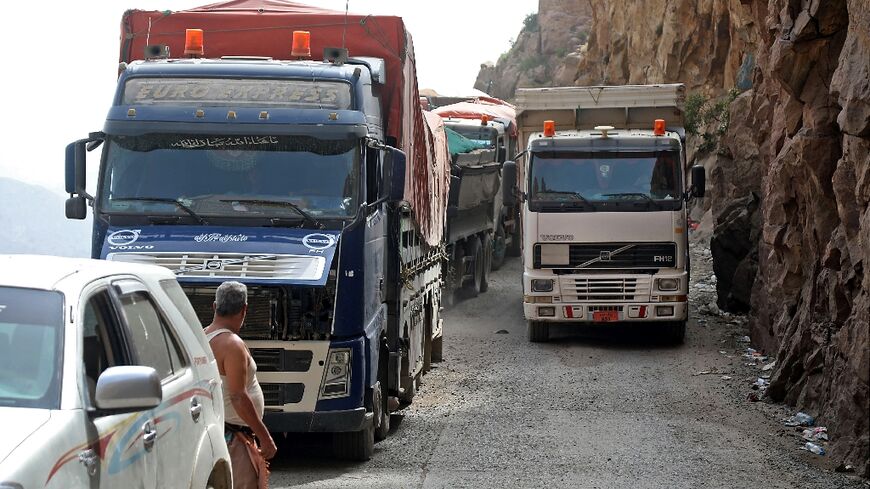
[[[136,280],[113,283],[118,290],[131,349],[139,365],[153,367],[160,376],[163,402],[153,413],[160,487],[189,486],[204,433],[203,399],[177,334],[168,326],[144,284]]]

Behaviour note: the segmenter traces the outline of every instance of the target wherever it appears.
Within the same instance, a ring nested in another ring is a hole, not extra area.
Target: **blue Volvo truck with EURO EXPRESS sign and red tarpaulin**
[[[449,169],[401,18],[231,1],[124,14],[102,131],[67,148],[95,258],[175,273],[199,319],[248,286],[266,426],[366,460],[439,355]],[[96,195],[86,157],[102,145]]]

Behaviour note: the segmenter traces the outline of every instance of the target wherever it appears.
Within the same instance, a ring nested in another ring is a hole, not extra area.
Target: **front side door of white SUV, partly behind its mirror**
[[[126,347],[123,323],[112,304],[108,283],[83,296],[81,370],[84,403],[95,408],[97,379],[109,367],[130,365],[133,359]],[[84,413],[84,412],[83,412]],[[157,487],[157,460],[154,452],[152,412],[88,416],[82,440],[75,453],[90,476],[90,487],[105,489]]]

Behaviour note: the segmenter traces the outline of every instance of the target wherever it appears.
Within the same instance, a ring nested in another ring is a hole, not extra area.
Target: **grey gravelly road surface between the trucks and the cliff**
[[[272,486],[867,487],[808,463],[779,422],[784,407],[746,401],[755,374],[736,353],[737,326],[692,321],[679,347],[628,328],[530,344],[520,273],[510,260],[486,294],[446,311],[445,362],[370,462],[337,462],[325,437],[295,437]],[[711,368],[733,379],[693,375]]]

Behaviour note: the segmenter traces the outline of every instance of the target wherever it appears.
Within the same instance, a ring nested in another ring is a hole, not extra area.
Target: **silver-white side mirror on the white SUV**
[[[97,379],[94,404],[101,414],[154,409],[163,401],[163,387],[151,367],[127,365],[106,369]]]

